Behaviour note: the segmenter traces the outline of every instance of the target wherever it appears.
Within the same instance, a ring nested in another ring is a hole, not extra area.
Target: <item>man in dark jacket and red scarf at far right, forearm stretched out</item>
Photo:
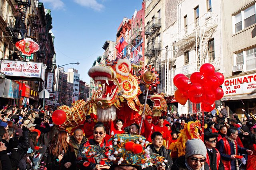
[[[236,138],[238,137],[238,130],[236,127],[230,127],[227,131],[227,136],[221,139],[216,148],[220,151],[222,162],[225,170],[238,170],[238,154],[252,154],[252,150],[240,147]]]

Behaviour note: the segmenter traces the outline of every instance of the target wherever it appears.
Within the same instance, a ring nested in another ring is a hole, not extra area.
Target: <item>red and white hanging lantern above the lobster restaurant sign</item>
[[[31,38],[24,38],[15,44],[18,51],[21,51],[24,55],[31,56],[32,53],[36,53],[39,50],[39,45]]]

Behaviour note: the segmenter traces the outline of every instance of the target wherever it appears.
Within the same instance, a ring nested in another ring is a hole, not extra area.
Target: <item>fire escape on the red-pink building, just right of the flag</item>
[[[132,43],[132,45],[135,47],[132,47],[132,51],[133,52],[135,49],[137,49],[142,43],[143,43],[143,37],[142,37],[142,27],[138,27],[134,33],[132,34],[131,38],[130,38],[130,42]],[[139,49],[140,50],[140,49]],[[142,58],[141,54],[138,54],[136,56],[131,57],[130,61],[132,63],[138,63],[140,61],[140,59]]]

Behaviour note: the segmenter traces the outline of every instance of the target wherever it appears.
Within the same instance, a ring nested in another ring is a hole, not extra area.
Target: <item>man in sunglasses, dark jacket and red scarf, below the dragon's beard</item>
[[[101,169],[109,169],[110,166],[104,164],[100,164],[101,159],[108,158],[108,152],[105,152],[105,148],[109,147],[108,141],[104,139],[106,136],[106,129],[103,124],[98,123],[95,125],[93,130],[93,139],[89,139],[79,148],[78,156],[76,159],[76,163],[79,166],[80,170],[101,170]],[[98,152],[92,158],[84,158],[82,156],[82,151],[84,147],[88,147],[93,145],[97,148]]]

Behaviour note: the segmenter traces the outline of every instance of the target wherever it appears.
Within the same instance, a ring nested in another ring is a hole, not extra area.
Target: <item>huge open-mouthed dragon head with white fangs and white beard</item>
[[[102,86],[92,96],[97,106],[98,121],[109,122],[116,119],[116,108],[122,107],[124,100],[127,100],[132,110],[138,111],[135,103],[140,106],[139,78],[131,73],[132,66],[128,59],[106,61],[106,65],[102,64],[89,69],[88,75],[95,83]]]

